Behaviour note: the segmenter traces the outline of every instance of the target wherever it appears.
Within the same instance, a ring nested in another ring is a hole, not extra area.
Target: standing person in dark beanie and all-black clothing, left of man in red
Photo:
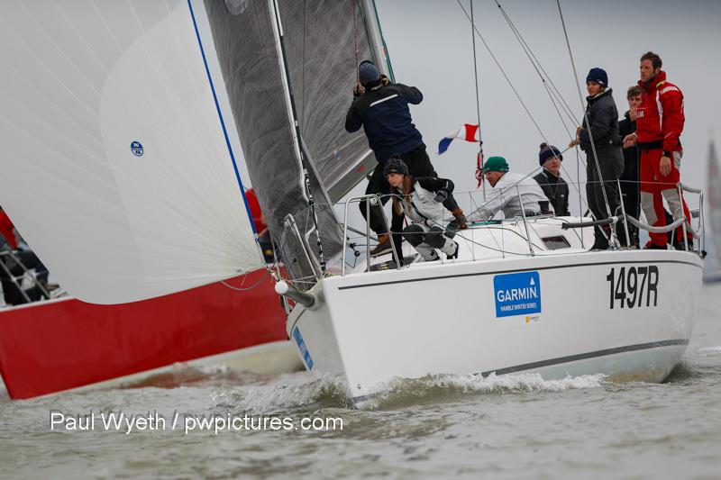
[[[606,71],[603,68],[591,68],[586,77],[586,89],[589,91],[586,114],[582,126],[576,131],[576,140],[569,143],[569,147],[580,145],[580,149],[586,152],[586,198],[597,220],[608,217],[606,202],[611,215],[621,213],[621,196],[616,180],[624,171],[624,156],[621,152],[621,136],[618,134],[618,110],[613,90],[607,86]],[[598,156],[598,165],[594,151]],[[599,169],[603,181],[598,177]],[[616,231],[621,236],[624,229],[621,227]],[[608,225],[603,229],[596,227],[591,249],[607,249],[610,234]],[[625,240],[621,240],[621,244],[625,245]]]

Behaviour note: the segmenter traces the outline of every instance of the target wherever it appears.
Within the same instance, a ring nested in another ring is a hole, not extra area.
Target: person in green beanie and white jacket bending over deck
[[[491,157],[483,166],[483,175],[491,189],[488,201],[470,214],[472,222],[489,220],[498,211],[503,211],[506,218],[538,215],[541,213],[540,202],[548,203],[548,198],[538,183],[527,175],[508,171],[506,158]],[[523,202],[523,209],[521,203]]]

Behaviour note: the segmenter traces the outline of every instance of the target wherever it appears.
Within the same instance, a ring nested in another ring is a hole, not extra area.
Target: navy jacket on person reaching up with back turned
[[[379,163],[398,157],[423,144],[408,104],[420,104],[423,94],[415,86],[379,85],[353,100],[345,117],[345,130],[366,132],[370,149]]]

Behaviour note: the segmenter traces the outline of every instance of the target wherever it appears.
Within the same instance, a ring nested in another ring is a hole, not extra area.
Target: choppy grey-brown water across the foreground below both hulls
[[[397,382],[352,410],[329,379],[219,366],[178,367],[133,388],[0,401],[0,477],[719,478],[719,312],[721,285],[704,286],[693,340],[663,385],[434,376]],[[51,411],[92,411],[96,430],[50,431]],[[110,412],[155,413],[166,428],[104,430],[101,413]],[[239,417],[242,430],[185,431],[210,415]],[[291,430],[252,430],[263,415]],[[304,418],[342,419],[342,430],[296,430]]]

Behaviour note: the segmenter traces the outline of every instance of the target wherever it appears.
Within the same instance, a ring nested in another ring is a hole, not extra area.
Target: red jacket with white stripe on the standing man
[[[636,111],[636,135],[641,144],[661,143],[654,147],[665,151],[682,151],[681,131],[686,117],[683,114],[683,94],[678,86],[666,80],[666,72],[659,72],[649,82],[639,81],[643,101]]]

